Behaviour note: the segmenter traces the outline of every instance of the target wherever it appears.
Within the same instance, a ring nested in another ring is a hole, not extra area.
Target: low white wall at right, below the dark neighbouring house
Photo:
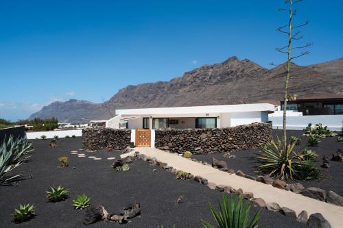
[[[274,129],[283,127],[282,116],[270,116],[269,121],[272,121]],[[287,129],[302,130],[309,123],[312,125],[322,123],[331,131],[340,131],[343,125],[343,115],[319,115],[319,116],[287,116]]]

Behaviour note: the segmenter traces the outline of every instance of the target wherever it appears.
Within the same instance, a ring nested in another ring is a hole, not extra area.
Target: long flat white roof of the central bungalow
[[[150,114],[200,114],[223,112],[274,112],[275,105],[270,103],[252,103],[240,105],[207,105],[189,107],[153,107],[127,110],[115,110],[117,115],[150,115]]]

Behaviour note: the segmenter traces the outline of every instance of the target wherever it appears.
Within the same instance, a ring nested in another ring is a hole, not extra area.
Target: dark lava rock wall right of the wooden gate
[[[255,149],[272,139],[270,123],[213,129],[156,129],[155,147],[173,153],[223,153]]]

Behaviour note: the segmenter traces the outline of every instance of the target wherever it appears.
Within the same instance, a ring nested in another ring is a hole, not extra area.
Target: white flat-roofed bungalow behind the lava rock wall
[[[235,127],[267,122],[275,107],[269,103],[156,107],[116,110],[106,127],[128,129]]]

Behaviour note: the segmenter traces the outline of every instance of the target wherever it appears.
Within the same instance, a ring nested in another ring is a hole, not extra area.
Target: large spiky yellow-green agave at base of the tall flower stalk
[[[285,148],[284,143],[277,138],[276,142],[272,140],[260,147],[261,154],[257,156],[258,172],[279,179],[316,179],[316,175],[311,176],[313,172],[307,172],[319,170],[312,160],[316,155],[311,150],[297,153],[294,151],[295,144],[289,142]]]

